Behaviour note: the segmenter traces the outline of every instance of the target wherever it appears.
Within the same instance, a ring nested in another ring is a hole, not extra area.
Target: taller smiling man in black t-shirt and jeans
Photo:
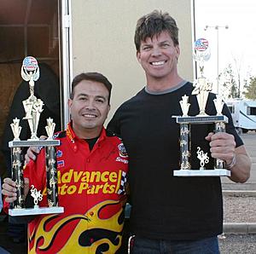
[[[125,101],[108,129],[122,136],[129,154],[131,190],[131,253],[219,253],[217,235],[223,232],[223,203],[219,177],[177,177],[179,125],[172,116],[182,115],[179,101],[189,95],[189,115],[199,113],[193,85],[177,73],[180,55],[176,21],[154,11],[137,21],[137,60],[147,84]],[[206,112],[216,115],[215,95],[210,94]],[[212,133],[212,126],[192,125],[191,166],[200,167],[196,147],[223,159],[230,179],[246,182],[250,159],[237,136],[229,110],[227,133]]]

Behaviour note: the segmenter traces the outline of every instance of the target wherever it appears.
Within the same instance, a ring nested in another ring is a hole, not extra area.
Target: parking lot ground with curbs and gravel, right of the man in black
[[[256,253],[256,132],[249,131],[241,135],[247,153],[252,160],[251,176],[246,183],[231,182],[227,177],[222,178],[224,189],[224,232],[218,238],[219,249],[222,254],[255,254]],[[236,200],[236,203],[232,199]],[[237,205],[234,205],[237,204]],[[230,209],[230,206],[234,206]],[[228,211],[230,209],[230,211]],[[237,220],[237,217],[240,217]],[[253,228],[250,230],[248,227]],[[243,232],[243,234],[241,234]],[[231,234],[236,233],[236,234]]]

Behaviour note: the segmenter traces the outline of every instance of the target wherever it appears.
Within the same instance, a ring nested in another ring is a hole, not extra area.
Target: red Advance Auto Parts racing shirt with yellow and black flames
[[[124,226],[128,156],[117,136],[105,129],[90,151],[71,124],[55,135],[59,206],[63,214],[36,216],[28,224],[28,253],[115,253]],[[47,206],[45,151],[24,169],[30,186]]]

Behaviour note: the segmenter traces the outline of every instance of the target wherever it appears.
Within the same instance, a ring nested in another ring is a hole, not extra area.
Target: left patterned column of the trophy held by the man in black
[[[180,156],[181,156],[181,170],[190,170],[189,164],[189,124],[180,125]]]

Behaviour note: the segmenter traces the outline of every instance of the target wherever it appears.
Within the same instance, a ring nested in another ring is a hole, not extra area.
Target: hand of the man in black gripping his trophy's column
[[[233,135],[226,132],[212,132],[206,137],[210,141],[212,158],[222,159],[230,165],[235,156],[236,141]]]

